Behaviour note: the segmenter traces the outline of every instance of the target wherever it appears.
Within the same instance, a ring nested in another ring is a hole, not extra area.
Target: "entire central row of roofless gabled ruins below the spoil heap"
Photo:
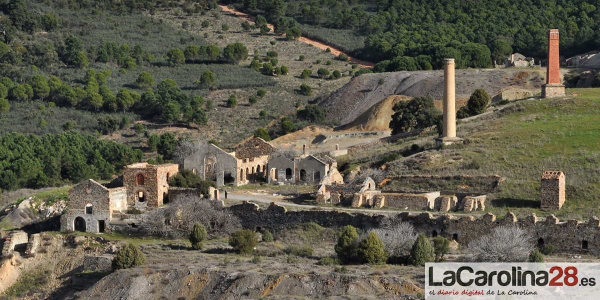
[[[184,168],[193,170],[202,179],[216,181],[218,187],[264,181],[270,184],[343,182],[337,162],[331,157],[304,153],[290,160],[276,154],[275,150],[259,137],[248,140],[230,153],[206,144],[185,158]]]

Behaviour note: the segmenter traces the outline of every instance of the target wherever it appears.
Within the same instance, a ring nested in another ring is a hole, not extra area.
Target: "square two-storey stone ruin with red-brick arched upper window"
[[[163,198],[169,191],[169,178],[179,172],[178,164],[137,163],[125,166],[123,182],[127,188],[127,204],[139,208],[155,208],[163,205]],[[143,176],[143,184],[139,184]],[[143,194],[143,202],[139,194]]]

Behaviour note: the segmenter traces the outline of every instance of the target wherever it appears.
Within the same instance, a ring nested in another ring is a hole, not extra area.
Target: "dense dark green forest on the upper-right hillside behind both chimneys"
[[[352,55],[381,62],[376,71],[501,64],[513,51],[545,58],[548,29],[561,32],[560,51],[600,47],[600,8],[590,1],[237,0],[236,8],[275,24],[346,29],[366,37]],[[335,31],[321,40],[335,38]]]

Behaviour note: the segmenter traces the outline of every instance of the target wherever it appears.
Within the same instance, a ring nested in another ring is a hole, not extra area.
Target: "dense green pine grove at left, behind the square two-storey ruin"
[[[82,180],[110,179],[142,151],[74,131],[38,137],[7,133],[0,137],[0,188],[40,188]]]

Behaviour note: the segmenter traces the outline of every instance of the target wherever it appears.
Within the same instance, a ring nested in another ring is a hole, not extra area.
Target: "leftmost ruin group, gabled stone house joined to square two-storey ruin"
[[[179,172],[178,164],[136,163],[125,166],[123,176],[109,184],[94,179],[69,190],[68,211],[61,217],[61,232],[106,232],[111,224],[136,218],[128,208],[156,208],[168,203],[169,178]]]

